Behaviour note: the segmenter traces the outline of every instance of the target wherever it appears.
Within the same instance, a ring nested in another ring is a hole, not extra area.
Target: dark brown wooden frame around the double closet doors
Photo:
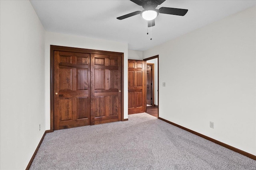
[[[78,53],[120,55],[121,61],[122,61],[121,121],[126,121],[126,119],[124,119],[124,53],[50,45],[50,130],[47,130],[46,132],[54,131],[54,51],[69,51],[69,52],[78,52]]]

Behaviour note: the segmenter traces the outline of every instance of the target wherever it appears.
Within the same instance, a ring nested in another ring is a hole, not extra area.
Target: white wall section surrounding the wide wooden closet
[[[103,39],[46,32],[45,39],[45,102],[46,129],[50,129],[50,45],[114,51],[124,53],[124,119],[128,118],[128,44]]]

